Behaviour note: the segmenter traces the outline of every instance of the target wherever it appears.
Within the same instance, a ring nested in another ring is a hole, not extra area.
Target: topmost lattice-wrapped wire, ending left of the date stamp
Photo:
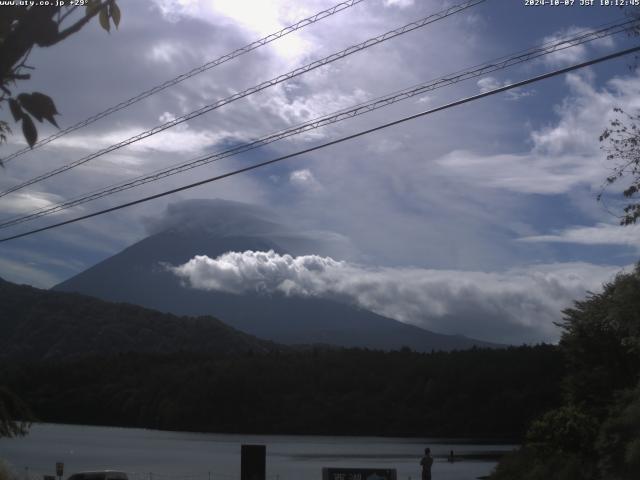
[[[108,115],[111,115],[112,113],[118,112],[124,108],[129,107],[130,105],[133,105],[134,103],[137,103],[141,100],[144,100],[147,97],[150,97],[151,95],[154,95],[158,92],[161,92],[162,90],[165,90],[169,87],[172,87],[174,85],[177,85],[180,82],[183,82],[184,80],[187,80],[188,78],[194,77],[202,72],[206,72],[207,70],[210,70],[214,67],[217,67],[218,65],[221,65],[223,63],[228,62],[229,60],[232,60],[234,58],[237,58],[241,55],[244,55],[245,53],[249,53],[259,47],[262,47],[264,45],[267,45],[275,40],[278,40],[282,37],[284,37],[285,35],[289,35],[290,33],[293,33],[297,30],[300,30],[308,25],[312,25],[316,22],[319,22],[320,20],[323,20],[327,17],[330,17],[338,12],[341,12],[342,10],[346,10],[347,8],[353,7],[355,5],[357,5],[358,3],[363,2],[364,0],[348,0],[342,3],[338,3],[337,5],[334,5],[331,8],[328,8],[326,10],[323,10],[321,12],[318,12],[310,17],[307,17],[303,20],[300,20],[296,23],[294,23],[293,25],[289,25],[288,27],[283,28],[282,30],[272,33],[270,35],[267,35],[266,37],[263,37],[259,40],[256,40],[255,42],[252,42],[248,45],[245,45],[244,47],[238,48],[237,50],[234,50],[233,52],[227,53],[219,58],[216,58],[215,60],[211,60],[207,63],[205,63],[204,65],[201,65],[199,67],[196,67],[186,73],[183,73],[181,75],[178,75],[175,78],[172,78],[171,80],[167,80],[164,83],[161,83],[159,85],[156,85],[155,87],[152,87],[148,90],[145,90],[142,93],[139,93],[138,95],[136,95],[135,97],[131,97],[128,100],[124,100],[120,103],[118,103],[117,105],[113,106],[113,107],[109,107],[106,110],[103,110],[102,112],[96,113],[95,115],[82,120],[81,122],[78,122],[74,125],[71,125],[70,127],[64,128],[62,130],[57,131],[56,133],[54,133],[53,135],[50,135],[47,138],[44,138],[42,140],[40,140],[39,142],[35,143],[33,145],[33,147],[24,147],[16,152],[13,152],[11,155],[8,155],[7,157],[0,159],[0,164],[2,163],[7,163],[11,160],[13,160],[16,157],[19,157],[20,155],[30,152],[36,148],[42,147],[43,145],[46,145],[47,143],[53,142],[54,140],[63,137],[64,135],[67,135],[68,133],[71,132],[75,132],[76,130],[79,130],[80,128],[84,128],[87,125],[91,125],[93,122],[96,122],[98,120],[100,120],[101,118],[104,118]]]

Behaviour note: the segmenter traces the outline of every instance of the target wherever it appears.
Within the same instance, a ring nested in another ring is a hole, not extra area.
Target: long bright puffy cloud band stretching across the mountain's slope
[[[381,268],[250,250],[167,268],[191,288],[330,298],[437,332],[502,342],[557,340],[553,322],[562,310],[620,269],[587,263],[504,272]]]

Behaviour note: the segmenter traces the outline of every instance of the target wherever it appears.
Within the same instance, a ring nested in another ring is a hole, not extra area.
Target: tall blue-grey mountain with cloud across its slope
[[[286,344],[327,343],[377,349],[452,350],[491,346],[440,335],[333,300],[200,291],[180,284],[163,264],[228,251],[317,253],[309,238],[283,231],[255,207],[224,201],[197,203],[200,218],[161,231],[54,287],[104,300],[129,302],[179,315],[213,315],[260,338]],[[196,210],[196,209],[192,209]]]

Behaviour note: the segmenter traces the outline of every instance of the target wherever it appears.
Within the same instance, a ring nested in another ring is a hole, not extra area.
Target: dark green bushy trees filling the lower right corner
[[[564,405],[531,424],[492,480],[640,478],[640,263],[558,325]]]

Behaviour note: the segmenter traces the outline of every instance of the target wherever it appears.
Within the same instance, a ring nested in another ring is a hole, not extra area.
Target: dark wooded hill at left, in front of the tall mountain
[[[228,355],[280,349],[213,317],[177,317],[0,279],[0,358],[60,359],[123,352]]]

